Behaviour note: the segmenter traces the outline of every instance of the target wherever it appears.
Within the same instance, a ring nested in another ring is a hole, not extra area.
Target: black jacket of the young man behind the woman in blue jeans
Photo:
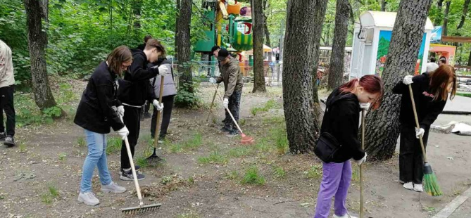
[[[134,60],[132,60],[132,65],[125,72],[124,77],[131,84],[127,87],[127,91],[123,91],[123,94],[118,97],[120,101],[127,105],[142,106],[146,103],[146,100],[156,99],[152,86],[149,84],[149,79],[158,75],[158,68],[147,68],[149,61],[147,61],[144,51],[139,49],[132,49],[131,51]]]

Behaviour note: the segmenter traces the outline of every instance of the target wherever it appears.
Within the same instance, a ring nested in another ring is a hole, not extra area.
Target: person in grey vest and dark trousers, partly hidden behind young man
[[[163,95],[162,95],[162,103],[165,105],[163,108],[163,115],[162,115],[162,124],[161,124],[161,132],[158,135],[158,143],[163,143],[165,136],[167,135],[168,125],[170,124],[170,116],[172,115],[172,108],[173,108],[173,99],[175,95],[177,95],[177,89],[175,87],[173,70],[172,70],[172,63],[167,60],[167,58],[158,58],[158,60],[154,63],[149,63],[149,68],[153,68],[154,66],[160,67],[161,65],[166,66],[168,70],[170,70],[169,74],[166,74],[163,78]],[[170,74],[172,75],[170,77]],[[160,90],[161,90],[161,75],[157,77],[153,77],[150,79],[151,86],[156,94],[156,98],[160,97]],[[151,119],[151,137],[152,139],[156,136],[156,117],[157,117],[157,110],[154,108],[152,113]]]

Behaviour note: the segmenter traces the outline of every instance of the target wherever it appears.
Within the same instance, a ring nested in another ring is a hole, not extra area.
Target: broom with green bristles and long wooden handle
[[[417,110],[415,109],[415,102],[414,102],[414,94],[412,91],[412,86],[409,84],[409,93],[410,93],[410,100],[412,101],[412,108],[414,110],[414,118],[415,118],[415,126],[417,129],[420,129],[419,119],[417,118]],[[420,140],[420,147],[422,148],[422,154],[424,156],[424,190],[429,195],[432,196],[441,196],[443,193],[441,192],[441,188],[437,181],[437,176],[435,176],[434,172],[432,171],[432,166],[427,162],[427,154],[425,153],[425,146],[424,141],[422,141],[422,136],[419,137]]]

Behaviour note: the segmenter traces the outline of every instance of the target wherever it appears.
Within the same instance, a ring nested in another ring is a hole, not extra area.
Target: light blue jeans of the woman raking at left
[[[106,134],[99,134],[87,129],[84,130],[87,139],[88,155],[82,168],[81,193],[92,192],[92,177],[95,167],[98,167],[101,184],[111,184],[111,175],[108,172],[108,162],[106,160]]]

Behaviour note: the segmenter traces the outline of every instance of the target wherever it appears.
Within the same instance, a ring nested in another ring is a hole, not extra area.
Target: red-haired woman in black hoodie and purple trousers
[[[334,218],[351,217],[346,208],[346,195],[351,181],[350,159],[356,160],[358,165],[366,160],[366,153],[358,141],[360,110],[368,110],[370,104],[373,109],[377,109],[382,94],[382,80],[374,75],[366,75],[339,86],[327,98],[320,129],[321,139],[322,135],[328,133],[341,146],[332,154],[330,162],[322,162],[322,183],[314,218],[329,217],[334,196]],[[317,150],[315,153],[318,155]]]

